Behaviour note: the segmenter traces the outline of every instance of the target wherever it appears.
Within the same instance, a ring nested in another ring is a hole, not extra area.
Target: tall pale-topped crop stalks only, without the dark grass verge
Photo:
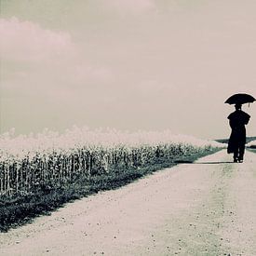
[[[73,128],[62,135],[45,130],[27,137],[10,132],[0,138],[0,195],[28,195],[83,176],[141,168],[163,157],[170,160],[219,146],[169,131]]]

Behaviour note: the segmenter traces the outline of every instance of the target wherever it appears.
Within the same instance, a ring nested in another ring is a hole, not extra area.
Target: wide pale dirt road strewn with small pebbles
[[[256,255],[256,154],[221,151],[0,234],[0,255]]]

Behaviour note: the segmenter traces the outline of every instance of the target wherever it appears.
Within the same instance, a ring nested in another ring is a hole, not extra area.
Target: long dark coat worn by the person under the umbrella
[[[249,115],[241,110],[228,115],[229,125],[232,128],[228,141],[227,153],[234,153],[239,146],[246,144],[246,125],[249,123]]]

